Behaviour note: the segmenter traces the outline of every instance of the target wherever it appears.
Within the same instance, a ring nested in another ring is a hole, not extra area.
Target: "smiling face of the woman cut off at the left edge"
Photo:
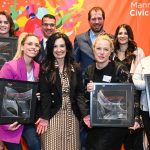
[[[5,15],[0,14],[0,36],[9,36],[10,23]]]

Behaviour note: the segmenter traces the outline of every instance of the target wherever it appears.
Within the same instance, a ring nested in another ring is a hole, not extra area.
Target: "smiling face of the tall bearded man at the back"
[[[102,12],[100,10],[98,11],[91,11],[91,17],[89,20],[89,24],[93,32],[99,33],[104,26],[104,18],[102,16]]]

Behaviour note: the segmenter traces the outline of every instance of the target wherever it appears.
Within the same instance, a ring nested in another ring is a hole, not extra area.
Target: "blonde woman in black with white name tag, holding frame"
[[[90,101],[89,92],[93,91],[93,82],[100,83],[128,83],[131,76],[126,66],[112,61],[110,55],[114,50],[112,39],[108,35],[99,35],[93,45],[95,63],[89,65],[85,72],[86,98]],[[90,103],[78,102],[83,121],[88,127],[87,144],[88,150],[120,150],[127,127],[92,127],[90,122]],[[135,114],[137,115],[137,114]],[[138,116],[136,116],[138,117]],[[135,130],[137,123],[130,127]]]

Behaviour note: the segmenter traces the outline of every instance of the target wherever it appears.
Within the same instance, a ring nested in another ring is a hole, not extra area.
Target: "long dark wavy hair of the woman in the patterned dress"
[[[57,66],[57,62],[56,62],[56,58],[53,55],[53,50],[54,50],[54,44],[55,41],[57,39],[62,38],[65,41],[65,45],[66,45],[66,56],[64,59],[64,68],[67,72],[68,78],[70,79],[71,77],[71,70],[74,69],[76,65],[76,63],[74,63],[73,57],[72,57],[72,43],[69,40],[68,36],[57,32],[54,33],[53,35],[51,35],[48,40],[47,40],[47,45],[46,45],[46,49],[47,49],[47,55],[46,58],[43,60],[42,64],[41,64],[41,71],[48,75],[48,82],[55,82],[56,81],[56,73],[58,71],[58,66]],[[51,74],[49,76],[49,74]]]

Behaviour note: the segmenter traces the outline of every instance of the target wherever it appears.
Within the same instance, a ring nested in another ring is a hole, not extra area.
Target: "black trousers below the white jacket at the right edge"
[[[144,130],[146,132],[146,136],[148,139],[148,142],[150,143],[150,117],[148,111],[142,111],[142,119],[144,124]]]

